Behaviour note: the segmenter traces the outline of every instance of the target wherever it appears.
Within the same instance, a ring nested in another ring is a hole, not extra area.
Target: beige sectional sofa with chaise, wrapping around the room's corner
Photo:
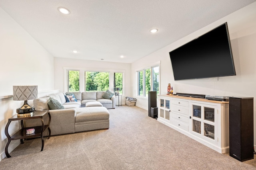
[[[66,102],[64,93],[52,94],[46,98],[38,98],[33,101],[35,111],[49,110],[51,115],[51,135],[61,135],[81,131],[109,128],[109,112],[107,108],[115,108],[116,99],[104,99],[104,92],[73,92],[77,102]],[[51,110],[48,106],[50,98],[58,100],[64,109]],[[103,107],[85,107],[87,102],[100,102]],[[48,122],[48,117],[44,119]],[[25,121],[26,127],[41,125],[40,119]],[[48,135],[45,131],[44,136]]]

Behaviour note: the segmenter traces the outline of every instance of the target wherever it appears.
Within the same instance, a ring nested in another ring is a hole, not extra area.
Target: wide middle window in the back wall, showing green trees
[[[109,89],[108,72],[85,71],[85,90],[84,91],[106,91]]]

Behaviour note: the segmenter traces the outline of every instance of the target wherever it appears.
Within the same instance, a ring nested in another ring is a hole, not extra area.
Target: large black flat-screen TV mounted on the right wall
[[[227,23],[169,54],[174,80],[236,75]]]

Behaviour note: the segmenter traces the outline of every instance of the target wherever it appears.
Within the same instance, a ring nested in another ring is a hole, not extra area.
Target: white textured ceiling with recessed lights
[[[133,63],[255,1],[0,0],[0,7],[54,57]]]

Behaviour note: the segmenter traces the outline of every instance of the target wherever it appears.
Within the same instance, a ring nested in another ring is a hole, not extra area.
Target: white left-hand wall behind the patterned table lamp
[[[38,85],[38,96],[43,91],[54,88],[53,57],[16,21],[0,8],[0,160],[6,155],[4,149],[7,138],[4,133],[8,118],[16,114],[16,108],[22,101],[13,101],[13,85]],[[11,123],[12,135],[20,125]],[[19,140],[12,141],[9,153],[19,145]]]

